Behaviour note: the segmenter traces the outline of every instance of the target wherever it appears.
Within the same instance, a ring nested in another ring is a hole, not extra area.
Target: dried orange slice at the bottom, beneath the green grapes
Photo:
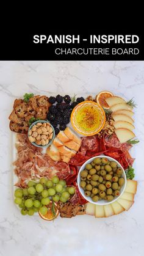
[[[50,202],[49,205],[47,205],[46,207],[48,208],[48,213],[43,215],[39,211],[38,213],[39,213],[40,217],[42,219],[45,219],[45,221],[52,221],[53,219],[56,219],[59,214],[59,210],[57,209],[57,203],[54,203],[54,211],[56,214],[52,213],[52,202]]]

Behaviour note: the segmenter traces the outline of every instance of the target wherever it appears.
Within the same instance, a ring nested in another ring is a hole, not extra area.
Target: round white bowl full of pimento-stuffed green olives
[[[123,194],[126,174],[117,160],[109,156],[94,156],[79,169],[77,185],[88,202],[108,205]]]

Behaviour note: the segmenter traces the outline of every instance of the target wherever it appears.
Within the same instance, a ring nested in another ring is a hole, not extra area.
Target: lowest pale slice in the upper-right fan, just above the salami
[[[129,139],[132,139],[133,137],[135,137],[135,134],[126,128],[115,129],[115,134],[117,135],[120,143],[129,141]]]

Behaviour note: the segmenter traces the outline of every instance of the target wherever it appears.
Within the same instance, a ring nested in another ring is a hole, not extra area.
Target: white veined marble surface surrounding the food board
[[[110,90],[126,100],[134,97],[135,203],[128,212],[107,219],[77,216],[46,222],[21,216],[13,204],[9,114],[13,100],[26,92],[95,95]],[[144,243],[144,62],[0,62],[0,255],[77,256],[143,255]]]

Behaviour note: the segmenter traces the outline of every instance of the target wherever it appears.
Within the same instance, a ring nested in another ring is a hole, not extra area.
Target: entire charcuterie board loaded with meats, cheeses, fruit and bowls
[[[21,214],[52,220],[129,210],[137,191],[129,153],[139,142],[134,107],[112,92],[16,99],[9,119],[13,194]]]

